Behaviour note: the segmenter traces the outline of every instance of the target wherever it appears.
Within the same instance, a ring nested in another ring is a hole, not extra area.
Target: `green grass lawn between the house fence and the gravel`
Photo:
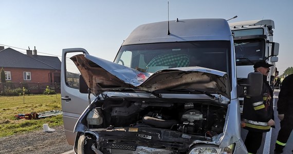
[[[0,96],[0,138],[42,130],[43,124],[48,124],[50,127],[63,125],[61,114],[38,120],[17,119],[14,116],[51,110],[61,110],[60,93],[53,95],[25,95],[24,97]]]

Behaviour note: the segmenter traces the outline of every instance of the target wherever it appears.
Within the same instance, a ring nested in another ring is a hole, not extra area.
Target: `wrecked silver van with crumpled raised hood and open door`
[[[260,94],[262,75],[250,73],[237,85],[226,20],[141,25],[114,62],[81,48],[64,49],[62,62],[76,52],[84,53],[70,58],[81,73],[78,86],[63,64],[61,87],[76,153],[247,153],[238,95]],[[88,106],[82,112],[77,104]]]

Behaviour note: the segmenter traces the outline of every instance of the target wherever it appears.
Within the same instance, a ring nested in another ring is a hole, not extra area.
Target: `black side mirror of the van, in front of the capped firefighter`
[[[240,84],[243,88],[243,94],[248,97],[254,97],[262,93],[263,74],[251,72],[247,76],[247,83]]]

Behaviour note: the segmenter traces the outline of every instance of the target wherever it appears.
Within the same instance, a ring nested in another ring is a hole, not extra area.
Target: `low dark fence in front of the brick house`
[[[49,86],[49,89],[55,90],[57,93],[60,93],[60,83],[0,83],[0,91],[5,91],[5,89],[17,89],[23,88],[28,90],[31,94],[41,94]]]

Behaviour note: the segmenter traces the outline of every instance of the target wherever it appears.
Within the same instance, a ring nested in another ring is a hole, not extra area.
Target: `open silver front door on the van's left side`
[[[63,49],[61,65],[61,106],[65,136],[68,144],[74,145],[76,133],[75,124],[81,113],[88,106],[88,94],[79,91],[80,72],[69,58],[77,54],[88,54],[85,49]],[[91,98],[94,95],[91,94]]]

